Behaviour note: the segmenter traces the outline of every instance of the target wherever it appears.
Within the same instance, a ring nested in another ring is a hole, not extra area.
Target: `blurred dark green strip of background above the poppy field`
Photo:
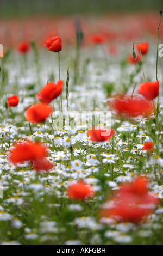
[[[162,0],[0,0],[1,19],[30,15],[103,15],[162,9]]]

